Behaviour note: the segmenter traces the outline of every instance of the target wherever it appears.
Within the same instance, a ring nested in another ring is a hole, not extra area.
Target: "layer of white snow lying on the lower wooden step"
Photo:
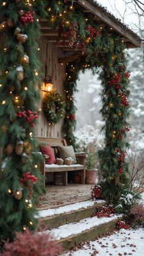
[[[74,222],[70,224],[61,225],[57,229],[52,229],[51,231],[46,230],[44,233],[50,233],[52,236],[56,238],[56,240],[60,240],[61,238],[66,238],[71,235],[77,235],[78,233],[81,233],[84,230],[91,229],[92,227],[96,227],[98,225],[107,223],[109,221],[112,221],[113,219],[120,218],[122,215],[113,215],[110,216],[110,218],[101,218],[98,217],[90,217],[86,219],[82,219],[79,222]]]

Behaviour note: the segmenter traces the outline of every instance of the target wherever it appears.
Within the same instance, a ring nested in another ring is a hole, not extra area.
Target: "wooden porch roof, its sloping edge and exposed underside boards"
[[[71,2],[71,0],[68,0]],[[106,8],[98,4],[94,0],[74,0],[73,5],[77,9],[81,9],[84,13],[87,13],[96,24],[101,26],[109,27],[109,31],[115,31],[122,38],[124,43],[126,43],[128,48],[140,48],[142,46],[142,40],[139,35],[135,34],[129,27],[121,23],[120,19],[115,18],[112,13],[108,12]],[[48,21],[41,20],[41,33],[45,40],[51,43],[55,43],[56,47],[63,49],[65,53],[68,51],[74,51],[68,47],[68,42],[65,42],[63,46],[62,42],[58,42],[57,29],[52,29],[48,26]],[[77,49],[77,53],[80,49]]]

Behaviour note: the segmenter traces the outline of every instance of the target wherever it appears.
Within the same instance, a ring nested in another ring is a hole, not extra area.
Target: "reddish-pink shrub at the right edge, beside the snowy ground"
[[[144,205],[142,203],[134,205],[130,214],[134,217],[135,225],[144,225]]]

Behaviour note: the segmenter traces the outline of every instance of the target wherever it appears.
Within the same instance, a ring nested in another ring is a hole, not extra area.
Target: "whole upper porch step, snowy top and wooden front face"
[[[38,211],[41,227],[54,229],[59,225],[77,222],[88,218],[92,213],[96,213],[97,207],[104,205],[104,200],[87,200],[85,202],[73,203],[55,209]]]

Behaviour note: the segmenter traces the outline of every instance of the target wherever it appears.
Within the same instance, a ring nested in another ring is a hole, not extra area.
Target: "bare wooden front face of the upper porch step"
[[[54,229],[56,227],[59,227],[60,225],[69,224],[71,222],[77,222],[81,219],[88,218],[92,215],[92,213],[96,213],[97,207],[101,207],[105,205],[106,202],[103,203],[95,203],[91,207],[87,208],[80,208],[76,211],[70,211],[68,213],[62,213],[59,215],[53,215],[46,218],[40,218],[38,220],[38,226],[40,226],[42,229]]]

